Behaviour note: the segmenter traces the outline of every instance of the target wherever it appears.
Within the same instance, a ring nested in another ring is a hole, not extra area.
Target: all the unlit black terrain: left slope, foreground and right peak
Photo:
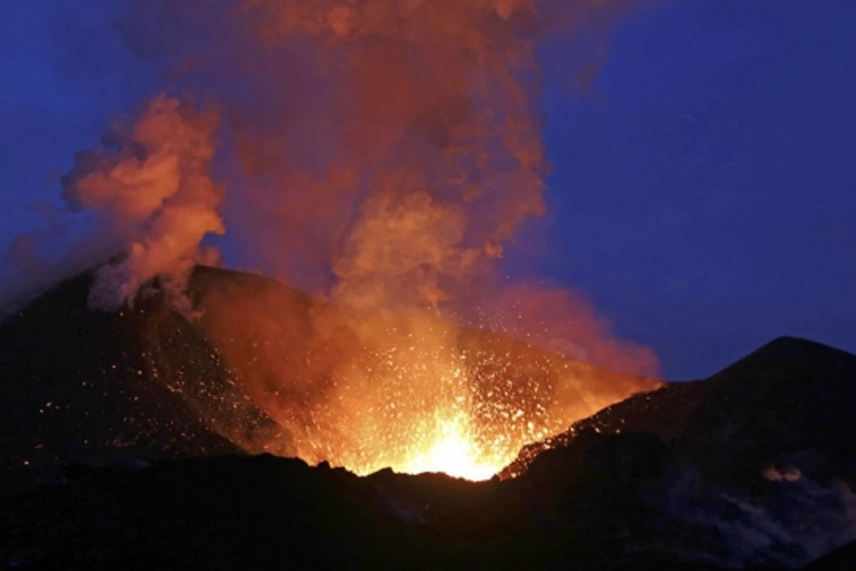
[[[851,354],[778,339],[488,482],[359,478],[247,455],[276,428],[252,404],[212,428],[247,399],[181,316],[57,291],[0,327],[5,568],[856,568]]]

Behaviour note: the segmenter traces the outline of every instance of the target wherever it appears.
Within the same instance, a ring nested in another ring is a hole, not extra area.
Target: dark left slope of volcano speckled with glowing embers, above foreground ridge
[[[0,326],[0,461],[35,474],[72,458],[240,452],[175,397],[226,377],[205,340],[158,300],[92,312],[89,283],[62,283]],[[181,374],[166,378],[170,357]]]

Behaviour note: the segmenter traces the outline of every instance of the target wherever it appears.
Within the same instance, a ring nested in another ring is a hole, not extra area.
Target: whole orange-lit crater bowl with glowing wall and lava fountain
[[[425,314],[317,306],[273,284],[249,293],[223,287],[202,307],[206,335],[253,406],[279,428],[250,439],[241,431],[224,436],[251,452],[328,461],[358,474],[391,467],[490,479],[527,443],[656,385],[513,336]],[[554,308],[558,322],[571,321],[568,307]],[[592,354],[615,355],[615,363],[633,354],[597,341],[591,324],[584,330]],[[570,332],[563,333],[568,340]],[[639,366],[649,364],[647,355],[640,352]],[[226,413],[234,414],[230,407]]]

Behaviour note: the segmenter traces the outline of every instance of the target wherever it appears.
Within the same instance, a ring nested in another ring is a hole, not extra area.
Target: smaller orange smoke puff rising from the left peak
[[[133,124],[110,128],[102,149],[77,154],[62,179],[68,208],[97,211],[128,244],[121,259],[98,270],[91,306],[133,302],[159,277],[175,304],[189,309],[182,292],[202,239],[225,231],[222,191],[208,172],[218,122],[216,110],[198,112],[162,95]]]

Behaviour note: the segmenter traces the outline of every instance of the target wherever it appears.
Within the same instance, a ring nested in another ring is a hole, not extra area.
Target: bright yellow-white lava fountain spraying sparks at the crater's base
[[[468,365],[465,355],[440,366],[437,354],[427,357],[413,348],[390,358],[395,353],[389,351],[383,365],[369,366],[359,375],[377,390],[363,386],[354,392],[354,378],[342,378],[347,394],[329,399],[312,414],[330,418],[329,425],[318,423],[307,431],[306,425],[281,416],[289,430],[311,434],[306,439],[311,445],[296,442],[294,454],[361,475],[391,467],[400,473],[482,480],[513,461],[524,444],[568,424],[568,419],[552,422],[540,406],[533,407],[529,419],[520,408],[526,403],[500,398],[502,387],[480,392],[469,373],[479,370],[479,364]]]

